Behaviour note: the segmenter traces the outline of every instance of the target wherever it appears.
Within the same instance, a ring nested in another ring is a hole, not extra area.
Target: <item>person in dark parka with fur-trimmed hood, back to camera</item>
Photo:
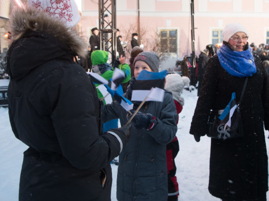
[[[49,0],[31,0],[10,19],[9,118],[29,146],[19,201],[110,201],[110,162],[128,142],[128,127],[102,132],[96,89],[74,62],[87,44],[71,29],[80,17],[70,2],[66,23],[43,11]]]

